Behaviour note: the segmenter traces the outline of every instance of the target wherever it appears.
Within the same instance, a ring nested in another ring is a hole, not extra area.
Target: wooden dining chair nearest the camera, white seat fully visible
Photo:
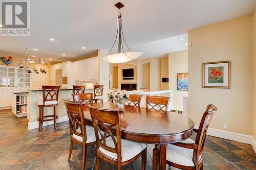
[[[141,169],[146,166],[146,144],[121,139],[120,117],[118,110],[99,109],[88,105],[96,136],[95,169],[99,169],[99,159],[117,166],[130,164],[141,156]],[[115,130],[113,128],[115,127]],[[103,131],[100,131],[101,130]],[[104,130],[103,130],[104,129]],[[110,137],[106,138],[109,134]],[[99,138],[101,136],[101,139]]]

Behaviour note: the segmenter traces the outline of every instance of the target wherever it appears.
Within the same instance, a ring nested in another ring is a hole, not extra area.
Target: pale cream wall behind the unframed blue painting
[[[187,72],[187,50],[168,54],[169,58],[169,89],[173,92],[173,109],[183,110],[183,96],[188,96],[188,91],[177,90],[177,73]],[[188,76],[189,80],[190,75]],[[191,89],[188,86],[188,89]]]

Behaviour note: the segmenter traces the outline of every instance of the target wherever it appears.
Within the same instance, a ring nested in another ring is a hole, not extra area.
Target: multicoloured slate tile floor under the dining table
[[[1,169],[81,169],[81,148],[75,145],[68,162],[70,133],[68,122],[28,130],[26,117],[17,118],[11,110],[0,110],[0,170]],[[191,136],[195,140],[196,133]],[[152,150],[148,145],[147,169],[152,169]],[[89,148],[86,169],[94,169],[95,149]],[[140,169],[141,158],[122,169]],[[177,169],[168,167],[167,169]],[[100,160],[100,169],[116,167]],[[256,154],[251,145],[207,136],[204,169],[256,169]]]

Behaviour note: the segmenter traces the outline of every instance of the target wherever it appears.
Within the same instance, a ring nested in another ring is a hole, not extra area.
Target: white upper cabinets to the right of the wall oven
[[[98,58],[76,61],[74,63],[74,81],[98,81]]]

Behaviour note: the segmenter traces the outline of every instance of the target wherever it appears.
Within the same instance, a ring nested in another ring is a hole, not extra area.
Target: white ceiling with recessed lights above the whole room
[[[46,58],[66,60],[108,50],[117,27],[118,1],[33,0],[31,35],[0,36],[0,53],[24,55],[28,47],[38,48]],[[161,57],[185,50],[187,31],[211,23],[248,15],[256,0],[123,0],[123,31],[132,50],[146,57]],[[176,37],[174,37],[176,36]],[[180,37],[184,36],[181,41]],[[49,41],[49,38],[55,41]],[[152,42],[154,41],[154,42]],[[81,46],[86,46],[83,50]],[[66,56],[62,57],[61,54]]]

